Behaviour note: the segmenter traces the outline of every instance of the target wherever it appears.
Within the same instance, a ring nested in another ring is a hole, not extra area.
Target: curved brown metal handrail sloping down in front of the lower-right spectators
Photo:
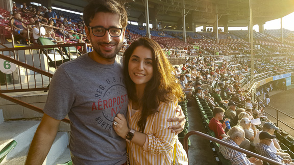
[[[241,152],[241,153],[244,153],[244,154],[246,154],[246,155],[248,155],[248,156],[255,157],[255,158],[260,159],[260,160],[262,160],[262,161],[266,161],[266,162],[271,163],[271,164],[279,164],[279,165],[282,165],[282,164],[283,164],[283,163],[279,163],[279,162],[277,162],[277,161],[274,161],[274,160],[272,160],[272,159],[266,158],[266,157],[264,157],[264,156],[258,155],[258,154],[254,153],[254,152],[250,152],[250,151],[245,150],[245,149],[242,149],[242,148],[240,148],[240,147],[236,147],[236,146],[231,145],[231,144],[229,144],[229,143],[223,142],[223,141],[221,141],[221,140],[218,140],[218,139],[216,139],[216,138],[214,138],[214,137],[212,137],[212,136],[210,136],[210,135],[207,135],[207,134],[202,133],[202,132],[199,132],[199,131],[190,131],[190,132],[188,132],[188,133],[185,135],[185,137],[184,137],[184,146],[183,146],[183,147],[184,147],[184,149],[185,149],[185,151],[186,151],[186,153],[187,153],[188,159],[189,159],[189,152],[188,152],[188,138],[189,138],[191,135],[194,135],[194,134],[196,134],[196,135],[198,135],[198,136],[201,136],[201,137],[203,137],[203,138],[206,139],[206,140],[210,140],[210,141],[212,141],[212,142],[218,143],[219,145],[223,145],[223,146],[225,146],[225,147],[228,147],[228,148],[234,149],[234,150],[236,150],[236,151],[239,151],[239,152]]]

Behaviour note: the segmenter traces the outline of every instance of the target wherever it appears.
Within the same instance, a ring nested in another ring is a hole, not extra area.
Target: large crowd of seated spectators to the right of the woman
[[[292,57],[266,58],[261,61],[262,63],[271,61],[274,65],[277,62],[290,60],[293,60]],[[252,95],[241,86],[242,80],[248,78],[249,65],[250,60],[246,59],[225,60],[216,57],[198,57],[189,58],[181,68],[176,66],[173,73],[179,78],[188,102],[193,96],[197,96],[199,100],[207,101],[213,109],[209,128],[218,139],[275,161],[293,164],[290,155],[281,149],[273,135],[274,132],[281,135],[287,135],[287,133],[267,119],[263,102],[252,100]],[[261,63],[255,65],[263,66]],[[266,104],[268,104],[266,94],[273,89],[276,90],[276,86],[272,83],[257,89],[258,95]],[[260,121],[260,124],[252,124],[256,119]],[[229,131],[225,121],[230,122],[232,128]],[[267,134],[264,134],[265,132]],[[219,150],[232,164],[261,163],[256,158],[247,158],[246,155],[224,146],[220,146]]]

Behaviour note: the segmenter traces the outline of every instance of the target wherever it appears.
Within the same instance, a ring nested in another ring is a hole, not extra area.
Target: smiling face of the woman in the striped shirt
[[[152,52],[149,48],[138,46],[129,60],[129,75],[136,85],[145,86],[153,77]]]

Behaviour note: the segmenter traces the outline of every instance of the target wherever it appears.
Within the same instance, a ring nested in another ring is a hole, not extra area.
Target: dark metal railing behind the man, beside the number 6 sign
[[[76,47],[77,53],[66,52],[69,47],[70,50]],[[0,57],[6,61],[7,66],[16,65],[16,70],[4,77],[5,84],[1,84],[1,92],[48,90],[47,86],[57,67],[80,56],[77,47],[81,47],[82,52],[87,50],[85,43],[0,49]]]

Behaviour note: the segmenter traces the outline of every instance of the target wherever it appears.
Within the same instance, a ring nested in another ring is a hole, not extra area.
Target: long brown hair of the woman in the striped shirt
[[[144,46],[152,51],[153,77],[146,84],[144,94],[139,100],[136,96],[135,84],[129,75],[129,61],[136,47]],[[139,38],[134,41],[124,53],[124,76],[126,80],[127,92],[130,100],[139,103],[142,107],[140,119],[137,123],[143,132],[145,129],[147,117],[157,112],[159,102],[169,102],[176,99],[181,100],[184,97],[180,84],[176,77],[171,74],[171,67],[165,53],[157,42],[149,38]]]

